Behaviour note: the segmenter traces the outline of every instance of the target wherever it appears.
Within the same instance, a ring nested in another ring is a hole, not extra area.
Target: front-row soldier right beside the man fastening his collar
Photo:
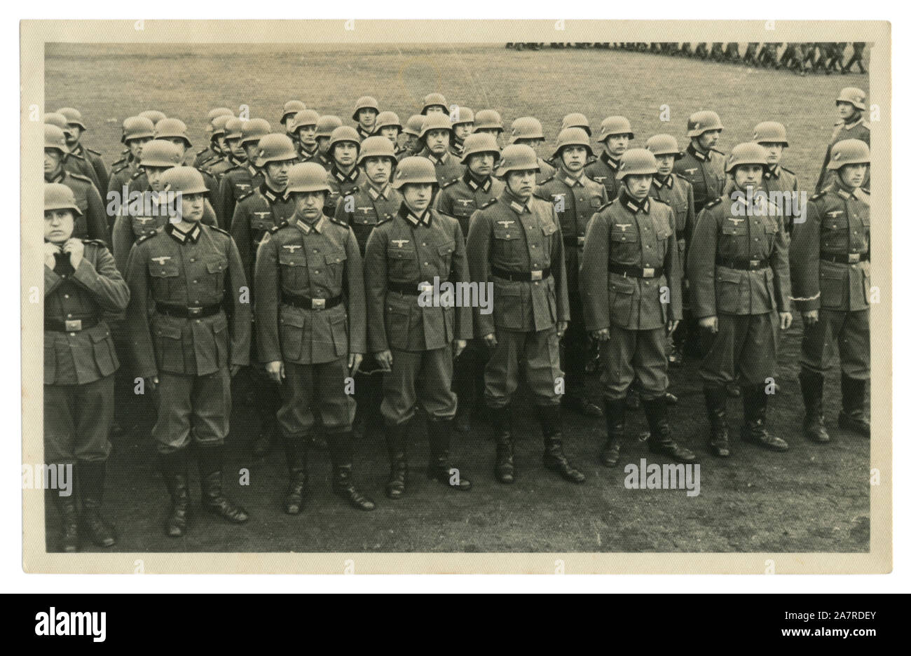
[[[203,507],[232,523],[248,519],[246,510],[224,495],[221,472],[230,378],[249,364],[251,310],[241,302],[247,280],[233,239],[218,227],[200,224],[208,191],[202,175],[195,168],[174,167],[163,177],[165,191],[180,194],[179,221],[140,238],[130,251],[127,324],[138,375],[148,389],[159,390],[152,437],[171,496],[166,531],[180,537],[190,510],[190,443],[196,448]]]

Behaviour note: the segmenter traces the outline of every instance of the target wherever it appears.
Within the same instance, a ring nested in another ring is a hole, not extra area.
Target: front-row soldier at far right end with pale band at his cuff
[[[859,139],[845,139],[832,146],[831,155],[832,182],[810,198],[806,220],[794,226],[791,244],[794,305],[804,318],[804,434],[816,442],[829,441],[823,382],[835,344],[842,369],[838,426],[870,437],[864,414],[870,379],[870,197],[860,188],[870,148]]]

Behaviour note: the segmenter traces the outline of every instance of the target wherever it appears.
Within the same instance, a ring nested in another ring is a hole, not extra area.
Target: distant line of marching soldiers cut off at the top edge
[[[507,48],[515,50],[540,50],[545,44],[508,43]],[[844,58],[851,47],[851,56],[847,64]],[[741,64],[756,68],[775,68],[792,70],[797,75],[807,73],[824,73],[847,75],[853,66],[858,72],[866,73],[864,67],[865,42],[848,43],[764,43],[758,41],[745,46],[739,43],[669,43],[669,42],[634,42],[634,43],[574,43],[550,44],[552,48],[609,48],[613,50],[632,50],[678,57],[691,57],[714,62]]]

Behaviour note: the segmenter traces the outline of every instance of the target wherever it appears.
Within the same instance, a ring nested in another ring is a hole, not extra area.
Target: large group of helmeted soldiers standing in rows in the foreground
[[[483,405],[494,476],[512,483],[520,378],[543,464],[571,483],[586,477],[564,452],[561,408],[606,422],[607,467],[619,462],[629,407],[645,411],[651,452],[692,462],[668,419],[669,360],[680,363],[684,343],[702,356],[711,453],[732,455],[729,396],[742,397],[743,442],[786,450],[766,426],[766,388],[793,306],[804,318],[806,437],[829,440],[823,380],[835,346],[838,425],[868,436],[865,93],[845,88],[835,104],[841,121],[796,221],[773,196],[752,193],[808,188],[782,166],[784,126],[760,123],[726,156],[715,148],[723,126],[713,111],[689,117],[683,149],[668,134],[630,147],[623,116],[593,134],[586,116],[569,114],[545,159],[537,118],[506,128],[496,110],[450,106],[438,93],[405,123],[370,96],[353,106],[354,126],[296,100],[278,130],[216,108],[199,153],[183,121],[150,110],[123,122],[123,157],[110,172],[83,145],[77,109],[47,115],[45,453],[47,463],[74,464],[77,478],[77,494],[54,495],[63,550],[78,550],[80,534],[116,541],[100,509],[121,359],[129,385],[141,378],[157,391],[152,437],[170,536],[188,527],[191,452],[202,508],[248,520],[222,489],[241,368],[261,413],[254,450],[273,439],[284,447],[290,514],[306,499],[317,430],[333,491],[374,510],[353,482],[355,419],[362,431],[383,427],[385,493],[400,499],[417,408],[429,478],[471,489],[450,442]],[[126,190],[152,202],[115,202]],[[178,212],[159,211],[161,192],[177,197]],[[492,311],[420,302],[440,281],[489,283]],[[603,405],[585,392],[592,344]]]

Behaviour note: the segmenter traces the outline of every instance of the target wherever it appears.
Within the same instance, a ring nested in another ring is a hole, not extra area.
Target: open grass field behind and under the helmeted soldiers
[[[188,38],[190,35],[188,35]],[[205,117],[214,106],[247,105],[251,117],[278,127],[281,106],[303,100],[322,114],[350,123],[358,96],[376,96],[382,109],[405,120],[431,91],[450,103],[496,108],[508,123],[537,116],[548,144],[569,112],[628,116],[633,146],[659,132],[685,145],[687,116],[714,109],[725,131],[720,148],[752,136],[752,126],[777,120],[791,147],[784,166],[812,188],[836,120],[834,97],[842,86],[867,87],[865,76],[798,77],[626,51],[551,50],[515,52],[490,46],[385,46],[353,50],[304,49],[298,45],[49,45],[45,107],[76,106],[89,131],[88,146],[109,163],[120,150],[120,123],[144,109],[160,109],[189,126],[195,148],[205,146]],[[659,119],[670,107],[670,122]],[[545,151],[542,151],[542,153]],[[547,149],[549,155],[549,148]],[[500,486],[493,478],[494,444],[482,424],[455,444],[455,462],[475,482],[470,493],[447,493],[421,475],[425,440],[415,432],[415,472],[409,494],[392,502],[383,495],[387,473],[381,439],[359,446],[356,479],[379,507],[348,510],[329,492],[325,453],[311,455],[311,499],[298,517],[279,510],[285,485],[279,450],[263,460],[248,456],[256,428],[253,411],[235,399],[229,438],[229,471],[251,470],[251,484],[227,487],[251,511],[241,527],[196,514],[186,538],[169,540],[160,528],[167,495],[155,473],[148,431],[148,404],[127,399],[128,435],[118,439],[108,466],[108,514],[117,521],[122,551],[866,551],[869,546],[869,442],[835,426],[837,373],[827,379],[826,416],[834,441],[810,444],[800,434],[803,403],[797,383],[799,318],[783,338],[779,358],[781,393],[770,405],[770,424],[792,449],[773,454],[734,439],[731,459],[713,459],[706,449],[707,421],[696,376],[688,361],[671,372],[671,390],[681,403],[671,409],[676,437],[701,461],[701,494],[683,490],[625,489],[622,467],[597,462],[601,422],[566,417],[567,449],[589,477],[580,487],[563,483],[540,465],[537,425],[525,401],[517,411],[521,435],[519,477]],[[597,381],[589,389],[598,398]],[[729,404],[732,434],[738,432],[739,401]],[[420,423],[420,422],[418,422]],[[630,417],[630,440],[620,465],[653,459],[635,436],[645,429],[640,413]],[[195,487],[194,490],[198,488]],[[193,492],[198,500],[199,494]],[[49,546],[56,542],[56,515],[48,513]],[[757,564],[757,569],[760,564]]]

